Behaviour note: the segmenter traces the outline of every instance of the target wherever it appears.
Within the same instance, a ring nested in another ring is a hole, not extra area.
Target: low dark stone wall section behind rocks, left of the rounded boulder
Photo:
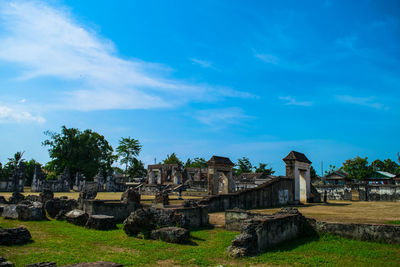
[[[138,203],[120,203],[116,201],[84,200],[82,210],[89,215],[108,215],[114,216],[115,220],[122,222],[133,211],[140,207]]]

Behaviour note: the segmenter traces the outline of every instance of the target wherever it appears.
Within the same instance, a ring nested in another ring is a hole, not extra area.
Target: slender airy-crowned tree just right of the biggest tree
[[[137,162],[137,156],[139,156],[140,150],[142,146],[139,143],[139,140],[134,138],[122,137],[119,140],[119,146],[117,147],[117,155],[120,158],[121,164],[125,164],[125,173],[128,174],[128,170]]]

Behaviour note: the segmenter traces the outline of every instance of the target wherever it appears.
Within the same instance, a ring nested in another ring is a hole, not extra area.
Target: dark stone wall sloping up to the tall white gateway
[[[293,203],[293,186],[293,179],[277,178],[256,188],[205,197],[200,204],[208,205],[210,212],[284,206]]]

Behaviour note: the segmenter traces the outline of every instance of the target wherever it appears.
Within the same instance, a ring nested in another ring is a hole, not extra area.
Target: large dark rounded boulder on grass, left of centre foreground
[[[188,222],[183,214],[153,207],[138,209],[124,221],[125,233],[132,236],[136,236],[140,232],[148,235],[156,228],[168,226],[188,228]]]

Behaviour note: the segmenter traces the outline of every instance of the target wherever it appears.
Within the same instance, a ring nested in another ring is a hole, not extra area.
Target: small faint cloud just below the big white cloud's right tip
[[[218,128],[230,124],[240,124],[243,119],[252,118],[238,107],[200,110],[195,113],[194,117],[203,124]]]

